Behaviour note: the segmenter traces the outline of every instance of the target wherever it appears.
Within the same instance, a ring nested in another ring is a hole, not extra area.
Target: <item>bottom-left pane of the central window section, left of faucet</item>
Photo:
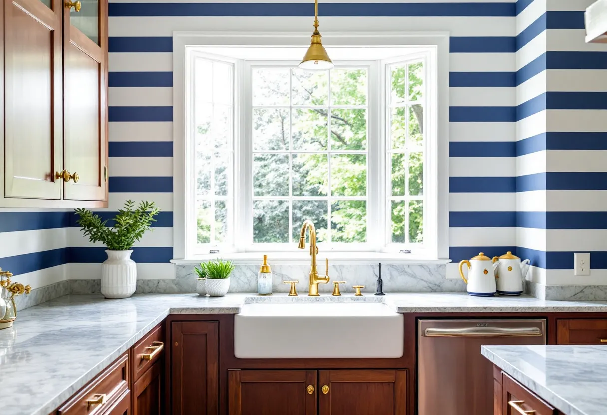
[[[289,241],[289,201],[253,201],[253,242],[287,243]]]

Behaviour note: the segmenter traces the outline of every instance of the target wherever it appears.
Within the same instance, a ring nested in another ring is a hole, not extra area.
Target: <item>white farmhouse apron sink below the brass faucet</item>
[[[401,357],[402,314],[382,303],[254,303],[234,316],[240,359]]]

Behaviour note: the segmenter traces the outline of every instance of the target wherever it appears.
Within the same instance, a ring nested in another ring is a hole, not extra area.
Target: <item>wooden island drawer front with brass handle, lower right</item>
[[[557,411],[512,377],[502,372],[501,405],[503,415],[557,415]]]

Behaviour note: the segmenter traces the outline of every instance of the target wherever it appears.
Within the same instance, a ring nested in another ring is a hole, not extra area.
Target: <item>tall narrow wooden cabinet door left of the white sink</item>
[[[219,411],[219,323],[171,323],[171,389],[175,415]]]

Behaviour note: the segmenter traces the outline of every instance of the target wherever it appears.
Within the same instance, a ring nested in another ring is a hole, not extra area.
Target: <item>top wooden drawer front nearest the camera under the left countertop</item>
[[[67,401],[59,415],[104,414],[129,390],[129,355],[123,354]],[[130,398],[129,398],[130,399]],[[129,401],[130,402],[130,401]]]

